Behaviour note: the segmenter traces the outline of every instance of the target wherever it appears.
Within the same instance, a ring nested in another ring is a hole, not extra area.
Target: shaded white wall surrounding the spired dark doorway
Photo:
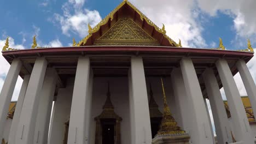
[[[130,144],[130,108],[127,77],[94,77],[90,143],[95,143],[96,122],[94,118],[100,115],[103,110],[102,107],[107,98],[108,81],[110,84],[110,99],[114,106],[114,111],[123,118],[123,121],[121,121],[121,143]]]

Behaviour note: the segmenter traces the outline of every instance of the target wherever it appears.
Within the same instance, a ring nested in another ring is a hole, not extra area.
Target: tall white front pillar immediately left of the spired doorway
[[[92,82],[89,80],[90,59],[89,57],[79,57],[77,72],[75,74],[74,91],[72,98],[71,114],[68,130],[68,143],[89,143],[90,121],[89,110],[91,110]],[[90,93],[89,93],[90,92]]]

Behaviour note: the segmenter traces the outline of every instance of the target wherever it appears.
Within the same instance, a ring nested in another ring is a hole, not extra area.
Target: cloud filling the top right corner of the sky
[[[228,14],[234,17],[234,28],[241,37],[249,37],[256,33],[256,1],[247,0],[227,0],[227,1],[211,1],[211,0],[197,0],[199,7],[210,14],[217,15],[217,12]]]

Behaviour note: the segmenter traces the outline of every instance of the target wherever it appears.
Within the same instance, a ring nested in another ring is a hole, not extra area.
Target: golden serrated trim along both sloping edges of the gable
[[[159,33],[162,33],[164,35],[164,37],[169,41],[169,43],[171,45],[180,47],[181,45],[178,45],[174,40],[172,40],[170,37],[168,37],[166,35],[166,31],[165,31],[165,25],[163,24],[162,28],[159,28],[158,26],[155,25],[154,22],[152,22],[151,20],[148,19],[148,17],[146,15],[144,15],[141,11],[139,11],[133,4],[131,4],[129,1],[124,0],[123,2],[121,2],[117,8],[115,8],[113,11],[111,11],[101,22],[99,22],[94,28],[91,28],[90,25],[88,25],[88,35],[83,38],[82,40],[79,41],[79,43],[77,44],[77,46],[81,46],[82,44],[85,44],[87,42],[87,40],[91,37],[92,33],[97,32],[98,30],[100,30],[100,27],[105,25],[108,20],[110,19],[111,21],[114,19],[114,14],[121,8],[123,7],[125,4],[128,4],[132,9],[134,9],[141,17],[141,20],[145,20],[148,25],[153,26],[155,28],[156,31],[158,31]]]

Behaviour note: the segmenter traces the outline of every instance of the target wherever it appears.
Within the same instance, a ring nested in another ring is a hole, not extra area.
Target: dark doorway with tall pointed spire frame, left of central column
[[[101,115],[95,117],[95,121],[95,144],[121,144],[120,122],[122,118],[114,112],[114,106],[110,100],[109,84],[103,111]]]

